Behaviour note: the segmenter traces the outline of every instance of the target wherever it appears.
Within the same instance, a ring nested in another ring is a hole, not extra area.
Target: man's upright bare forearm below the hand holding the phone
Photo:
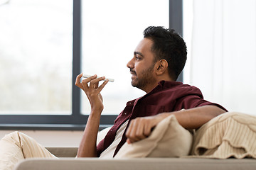
[[[96,141],[100,126],[100,114],[90,113],[78,148],[77,157],[97,157]]]

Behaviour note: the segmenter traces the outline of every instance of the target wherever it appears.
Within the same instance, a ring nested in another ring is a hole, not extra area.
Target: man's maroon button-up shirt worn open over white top
[[[182,84],[178,81],[160,81],[159,85],[148,94],[127,102],[127,106],[124,108],[124,111],[117,116],[117,119],[114,120],[114,125],[110,131],[107,132],[105,138],[97,145],[97,156],[100,157],[100,154],[112,144],[117,130],[127,120],[129,120],[127,125],[128,127],[129,122],[137,117],[180,111],[183,108],[196,108],[198,106],[206,105],[218,106],[219,108],[227,111],[216,103],[210,103],[203,100],[203,94],[195,86]],[[114,155],[117,154],[119,149],[127,140],[125,131],[121,142],[119,142],[115,149]]]

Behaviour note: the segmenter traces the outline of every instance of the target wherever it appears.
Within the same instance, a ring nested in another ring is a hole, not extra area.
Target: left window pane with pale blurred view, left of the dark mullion
[[[72,34],[71,0],[0,4],[1,114],[70,114]]]

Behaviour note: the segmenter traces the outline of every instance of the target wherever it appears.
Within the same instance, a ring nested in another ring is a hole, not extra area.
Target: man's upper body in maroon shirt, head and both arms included
[[[96,75],[80,81],[82,74],[79,74],[75,85],[85,91],[91,113],[78,157],[114,157],[124,142],[143,140],[154,126],[171,114],[183,128],[196,129],[216,115],[225,113],[222,106],[203,100],[201,91],[196,87],[176,82],[185,62],[186,44],[174,30],[146,28],[134,57],[127,63],[132,74],[132,86],[142,89],[146,95],[127,103],[98,146],[97,131],[104,108],[100,91],[108,81]],[[101,85],[100,81],[103,81]]]

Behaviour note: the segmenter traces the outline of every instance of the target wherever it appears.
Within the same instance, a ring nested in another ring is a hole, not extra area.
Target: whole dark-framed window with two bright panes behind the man
[[[0,128],[82,130],[90,105],[74,85],[80,72],[115,79],[102,91],[108,103],[100,127],[111,125],[127,101],[143,95],[132,89],[126,68],[142,31],[150,25],[174,28],[182,19],[176,13],[182,11],[181,4],[179,0],[0,4],[0,77],[4,80],[0,86],[5,88],[0,92],[4,98]]]

